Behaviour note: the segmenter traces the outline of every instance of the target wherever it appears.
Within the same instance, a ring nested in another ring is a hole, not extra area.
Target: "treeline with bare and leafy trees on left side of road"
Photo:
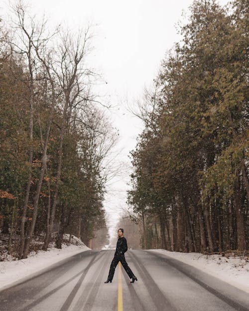
[[[0,21],[0,232],[22,259],[34,236],[44,250],[64,233],[88,245],[106,227],[103,161],[117,135],[92,92],[91,27],[51,32],[16,3]]]

